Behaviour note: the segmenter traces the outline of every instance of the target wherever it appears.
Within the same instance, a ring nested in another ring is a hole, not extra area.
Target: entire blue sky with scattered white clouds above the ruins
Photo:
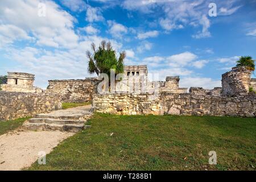
[[[209,16],[210,3],[217,16]],[[183,87],[221,86],[239,56],[256,59],[256,1],[0,1],[0,75],[34,73],[42,88],[50,79],[95,76],[85,52],[101,40],[159,80],[179,75]]]

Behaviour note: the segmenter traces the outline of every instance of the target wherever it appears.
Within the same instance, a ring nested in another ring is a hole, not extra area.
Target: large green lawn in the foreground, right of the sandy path
[[[256,119],[94,114],[29,170],[255,170]],[[112,135],[111,135],[112,134]],[[217,165],[209,165],[209,151]]]

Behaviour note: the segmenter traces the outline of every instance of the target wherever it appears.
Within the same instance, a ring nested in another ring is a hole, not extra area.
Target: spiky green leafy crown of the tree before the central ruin
[[[114,69],[115,74],[123,73],[125,59],[125,51],[120,53],[119,58],[115,56],[111,43],[102,41],[98,49],[94,43],[92,43],[93,55],[87,51],[86,55],[89,58],[88,72],[96,73],[98,76],[100,73],[106,73],[110,78],[110,69]]]

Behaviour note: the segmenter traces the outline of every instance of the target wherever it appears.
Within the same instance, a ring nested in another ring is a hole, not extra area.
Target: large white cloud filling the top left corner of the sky
[[[46,16],[39,17],[39,2],[39,0],[20,0],[15,3],[0,1],[1,23],[18,27],[19,30],[23,30],[23,35],[26,32],[27,35],[34,36],[40,46],[75,47],[78,36],[73,31],[73,22],[76,19],[66,11],[60,10],[59,5],[52,1],[46,1]],[[11,27],[9,26],[9,29]],[[23,38],[26,39],[26,36]]]

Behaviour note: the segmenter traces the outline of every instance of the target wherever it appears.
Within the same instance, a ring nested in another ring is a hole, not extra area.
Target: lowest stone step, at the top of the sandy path
[[[76,133],[84,129],[84,124],[66,124],[66,125],[57,125],[49,123],[24,123],[22,126],[23,130],[31,131],[66,131]]]

